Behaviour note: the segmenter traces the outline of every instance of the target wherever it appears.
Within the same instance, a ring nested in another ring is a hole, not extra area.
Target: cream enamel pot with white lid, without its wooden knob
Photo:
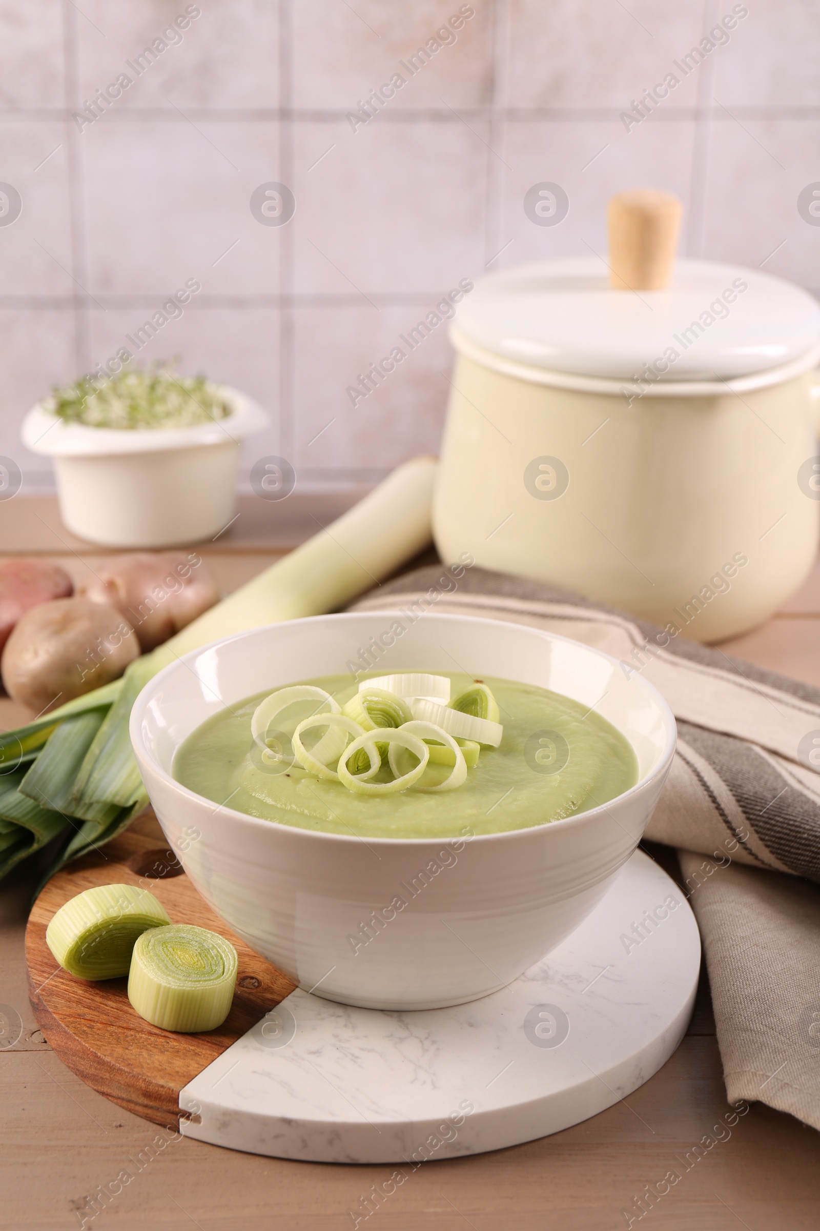
[[[698,641],[759,624],[805,579],[820,508],[806,292],[679,261],[669,291],[633,293],[596,257],[545,261],[479,281],[450,336],[441,559],[470,551]]]

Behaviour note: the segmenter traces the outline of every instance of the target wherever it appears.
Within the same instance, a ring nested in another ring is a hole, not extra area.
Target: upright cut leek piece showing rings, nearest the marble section
[[[236,949],[216,932],[191,923],[143,932],[132,956],[128,998],[161,1030],[215,1030],[236,986]]]

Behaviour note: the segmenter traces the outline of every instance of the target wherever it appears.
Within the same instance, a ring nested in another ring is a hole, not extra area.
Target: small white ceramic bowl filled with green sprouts
[[[179,428],[108,428],[66,423],[38,403],[21,436],[54,459],[64,524],[106,547],[172,547],[213,538],[234,516],[236,468],[246,436],[264,411],[220,387],[231,415]]]

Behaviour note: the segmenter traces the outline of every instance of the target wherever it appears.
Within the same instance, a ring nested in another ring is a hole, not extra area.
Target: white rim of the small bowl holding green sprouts
[[[38,401],[26,415],[20,435],[33,453],[47,457],[111,457],[117,453],[156,453],[165,449],[189,448],[199,444],[239,443],[246,436],[264,431],[268,416],[252,398],[237,389],[218,384],[230,401],[227,419],[192,427],[89,427],[86,423],[65,423]]]

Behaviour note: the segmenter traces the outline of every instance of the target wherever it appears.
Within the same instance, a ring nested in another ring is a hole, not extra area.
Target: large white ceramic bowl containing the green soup
[[[173,779],[176,750],[211,714],[263,688],[344,672],[371,638],[390,641],[396,622],[406,632],[393,635],[380,670],[450,671],[457,662],[595,707],[632,744],[637,785],[534,828],[463,842],[364,841],[246,816]],[[428,613],[408,624],[407,613],[352,613],[242,633],[161,671],[130,721],[156,815],[203,897],[300,987],[365,1008],[477,1000],[559,944],[638,844],[675,751],[675,719],[660,693],[599,650],[488,619]],[[396,897],[407,905],[391,911]],[[357,944],[363,926],[373,939]]]

